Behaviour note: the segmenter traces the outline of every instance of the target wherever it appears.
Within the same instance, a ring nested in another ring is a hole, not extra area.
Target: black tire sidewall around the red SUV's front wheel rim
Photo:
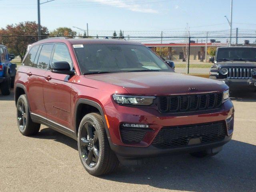
[[[84,158],[82,157],[82,152],[81,152],[81,148],[80,148],[80,141],[81,141],[81,136],[80,136],[80,133],[81,133],[81,130],[84,126],[84,124],[90,122],[97,134],[98,134],[98,140],[99,140],[99,159],[98,159],[98,162],[96,164],[96,166],[94,166],[93,168],[89,167],[85,161],[84,161]],[[79,153],[79,157],[80,157],[80,160],[82,162],[82,165],[84,166],[84,168],[90,173],[90,174],[94,174],[95,172],[97,172],[97,170],[99,169],[99,167],[101,166],[102,164],[102,152],[103,152],[103,148],[104,148],[104,144],[103,144],[103,141],[102,141],[102,137],[101,137],[101,133],[100,133],[100,130],[99,130],[99,125],[97,124],[97,122],[94,120],[94,118],[92,118],[91,116],[85,116],[80,125],[79,125],[79,128],[78,128],[78,153]]]

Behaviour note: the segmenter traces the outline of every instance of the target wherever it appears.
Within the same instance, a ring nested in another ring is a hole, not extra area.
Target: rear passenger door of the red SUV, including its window
[[[44,118],[46,118],[43,94],[43,85],[46,81],[44,78],[44,74],[46,73],[47,67],[50,63],[53,47],[54,44],[43,44],[41,46],[38,46],[38,50],[36,50],[36,48],[32,50],[34,48],[33,47],[30,50],[30,52],[32,52],[31,56],[28,55],[29,58],[33,56],[34,52],[37,52],[34,62],[30,61],[30,65],[32,67],[30,67],[27,71],[27,93],[28,100],[30,102],[31,112]],[[26,59],[24,62],[26,62]]]

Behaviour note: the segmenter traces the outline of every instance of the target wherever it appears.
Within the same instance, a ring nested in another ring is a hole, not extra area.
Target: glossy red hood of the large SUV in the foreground
[[[175,72],[127,72],[86,75],[86,78],[122,86],[132,95],[191,94],[227,90],[223,82]],[[190,90],[195,88],[196,90]]]

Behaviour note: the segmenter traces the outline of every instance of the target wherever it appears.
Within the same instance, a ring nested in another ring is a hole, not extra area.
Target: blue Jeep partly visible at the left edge
[[[8,54],[6,46],[0,45],[0,88],[2,95],[9,95],[10,88],[14,86],[16,64],[10,62],[13,54]]]

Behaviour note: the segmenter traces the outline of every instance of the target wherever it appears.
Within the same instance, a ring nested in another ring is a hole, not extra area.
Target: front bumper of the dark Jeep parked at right
[[[230,89],[240,89],[240,88],[256,88],[256,79],[217,79],[226,83]]]

